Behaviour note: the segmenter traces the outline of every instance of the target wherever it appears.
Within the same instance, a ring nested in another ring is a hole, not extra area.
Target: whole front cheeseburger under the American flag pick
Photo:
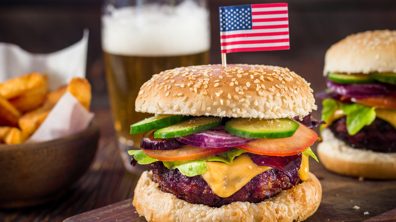
[[[322,189],[309,172],[317,139],[309,84],[287,68],[203,65],[154,75],[131,125],[131,164],[149,164],[133,205],[148,221],[302,221]]]

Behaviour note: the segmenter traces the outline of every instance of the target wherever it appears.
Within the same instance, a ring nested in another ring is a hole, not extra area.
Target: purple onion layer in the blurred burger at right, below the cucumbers
[[[327,80],[327,87],[340,95],[351,98],[363,98],[389,95],[396,92],[396,88],[389,84],[341,84]]]

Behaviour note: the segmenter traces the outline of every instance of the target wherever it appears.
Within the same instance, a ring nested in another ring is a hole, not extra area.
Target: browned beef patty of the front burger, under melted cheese
[[[188,177],[178,169],[168,169],[162,162],[150,164],[153,181],[159,183],[161,191],[193,204],[220,207],[236,201],[259,203],[294,186],[281,170],[273,168],[258,174],[233,195],[222,198],[213,193],[202,176]],[[296,182],[299,183],[300,179]]]

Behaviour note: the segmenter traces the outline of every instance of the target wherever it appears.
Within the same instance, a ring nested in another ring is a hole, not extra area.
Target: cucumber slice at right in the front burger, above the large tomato
[[[231,135],[255,139],[290,137],[298,128],[299,124],[288,118],[270,120],[236,118],[226,122],[224,126]]]

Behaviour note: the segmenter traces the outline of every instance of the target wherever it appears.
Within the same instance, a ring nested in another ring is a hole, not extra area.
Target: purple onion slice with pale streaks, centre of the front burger
[[[225,130],[207,130],[187,136],[177,137],[176,139],[187,145],[201,148],[220,148],[226,146],[233,147],[257,140],[233,136],[227,133]]]

